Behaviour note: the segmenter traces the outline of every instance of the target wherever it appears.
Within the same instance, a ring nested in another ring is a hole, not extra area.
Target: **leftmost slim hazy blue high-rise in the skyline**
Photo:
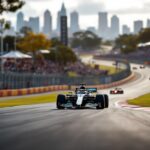
[[[24,14],[19,12],[17,14],[17,32],[20,32],[20,29],[24,26]]]

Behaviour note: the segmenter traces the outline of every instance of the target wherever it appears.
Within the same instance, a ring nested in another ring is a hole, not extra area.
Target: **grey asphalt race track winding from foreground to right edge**
[[[150,92],[150,69],[110,95],[110,107],[57,110],[55,104],[0,109],[0,150],[149,150],[150,112],[116,107]],[[110,89],[99,91],[109,93]]]

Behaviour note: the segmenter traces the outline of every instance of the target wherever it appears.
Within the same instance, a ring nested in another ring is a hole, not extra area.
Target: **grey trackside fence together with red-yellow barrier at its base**
[[[127,61],[116,61],[116,69],[121,69],[121,71],[114,75],[75,78],[63,75],[0,73],[0,97],[72,90],[75,88],[72,85],[79,85],[80,83],[105,89],[121,85],[133,78],[130,64]]]

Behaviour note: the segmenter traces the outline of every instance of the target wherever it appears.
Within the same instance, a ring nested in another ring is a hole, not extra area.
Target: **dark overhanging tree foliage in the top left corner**
[[[0,0],[0,14],[3,12],[15,12],[24,5],[21,0]]]

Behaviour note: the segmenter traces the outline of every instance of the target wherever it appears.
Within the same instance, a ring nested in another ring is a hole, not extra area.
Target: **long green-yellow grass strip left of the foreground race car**
[[[63,93],[67,93],[67,92],[63,92]],[[21,105],[52,103],[56,101],[57,94],[58,93],[51,93],[51,94],[46,94],[41,96],[31,96],[31,97],[3,100],[0,101],[0,108],[21,106]]]

